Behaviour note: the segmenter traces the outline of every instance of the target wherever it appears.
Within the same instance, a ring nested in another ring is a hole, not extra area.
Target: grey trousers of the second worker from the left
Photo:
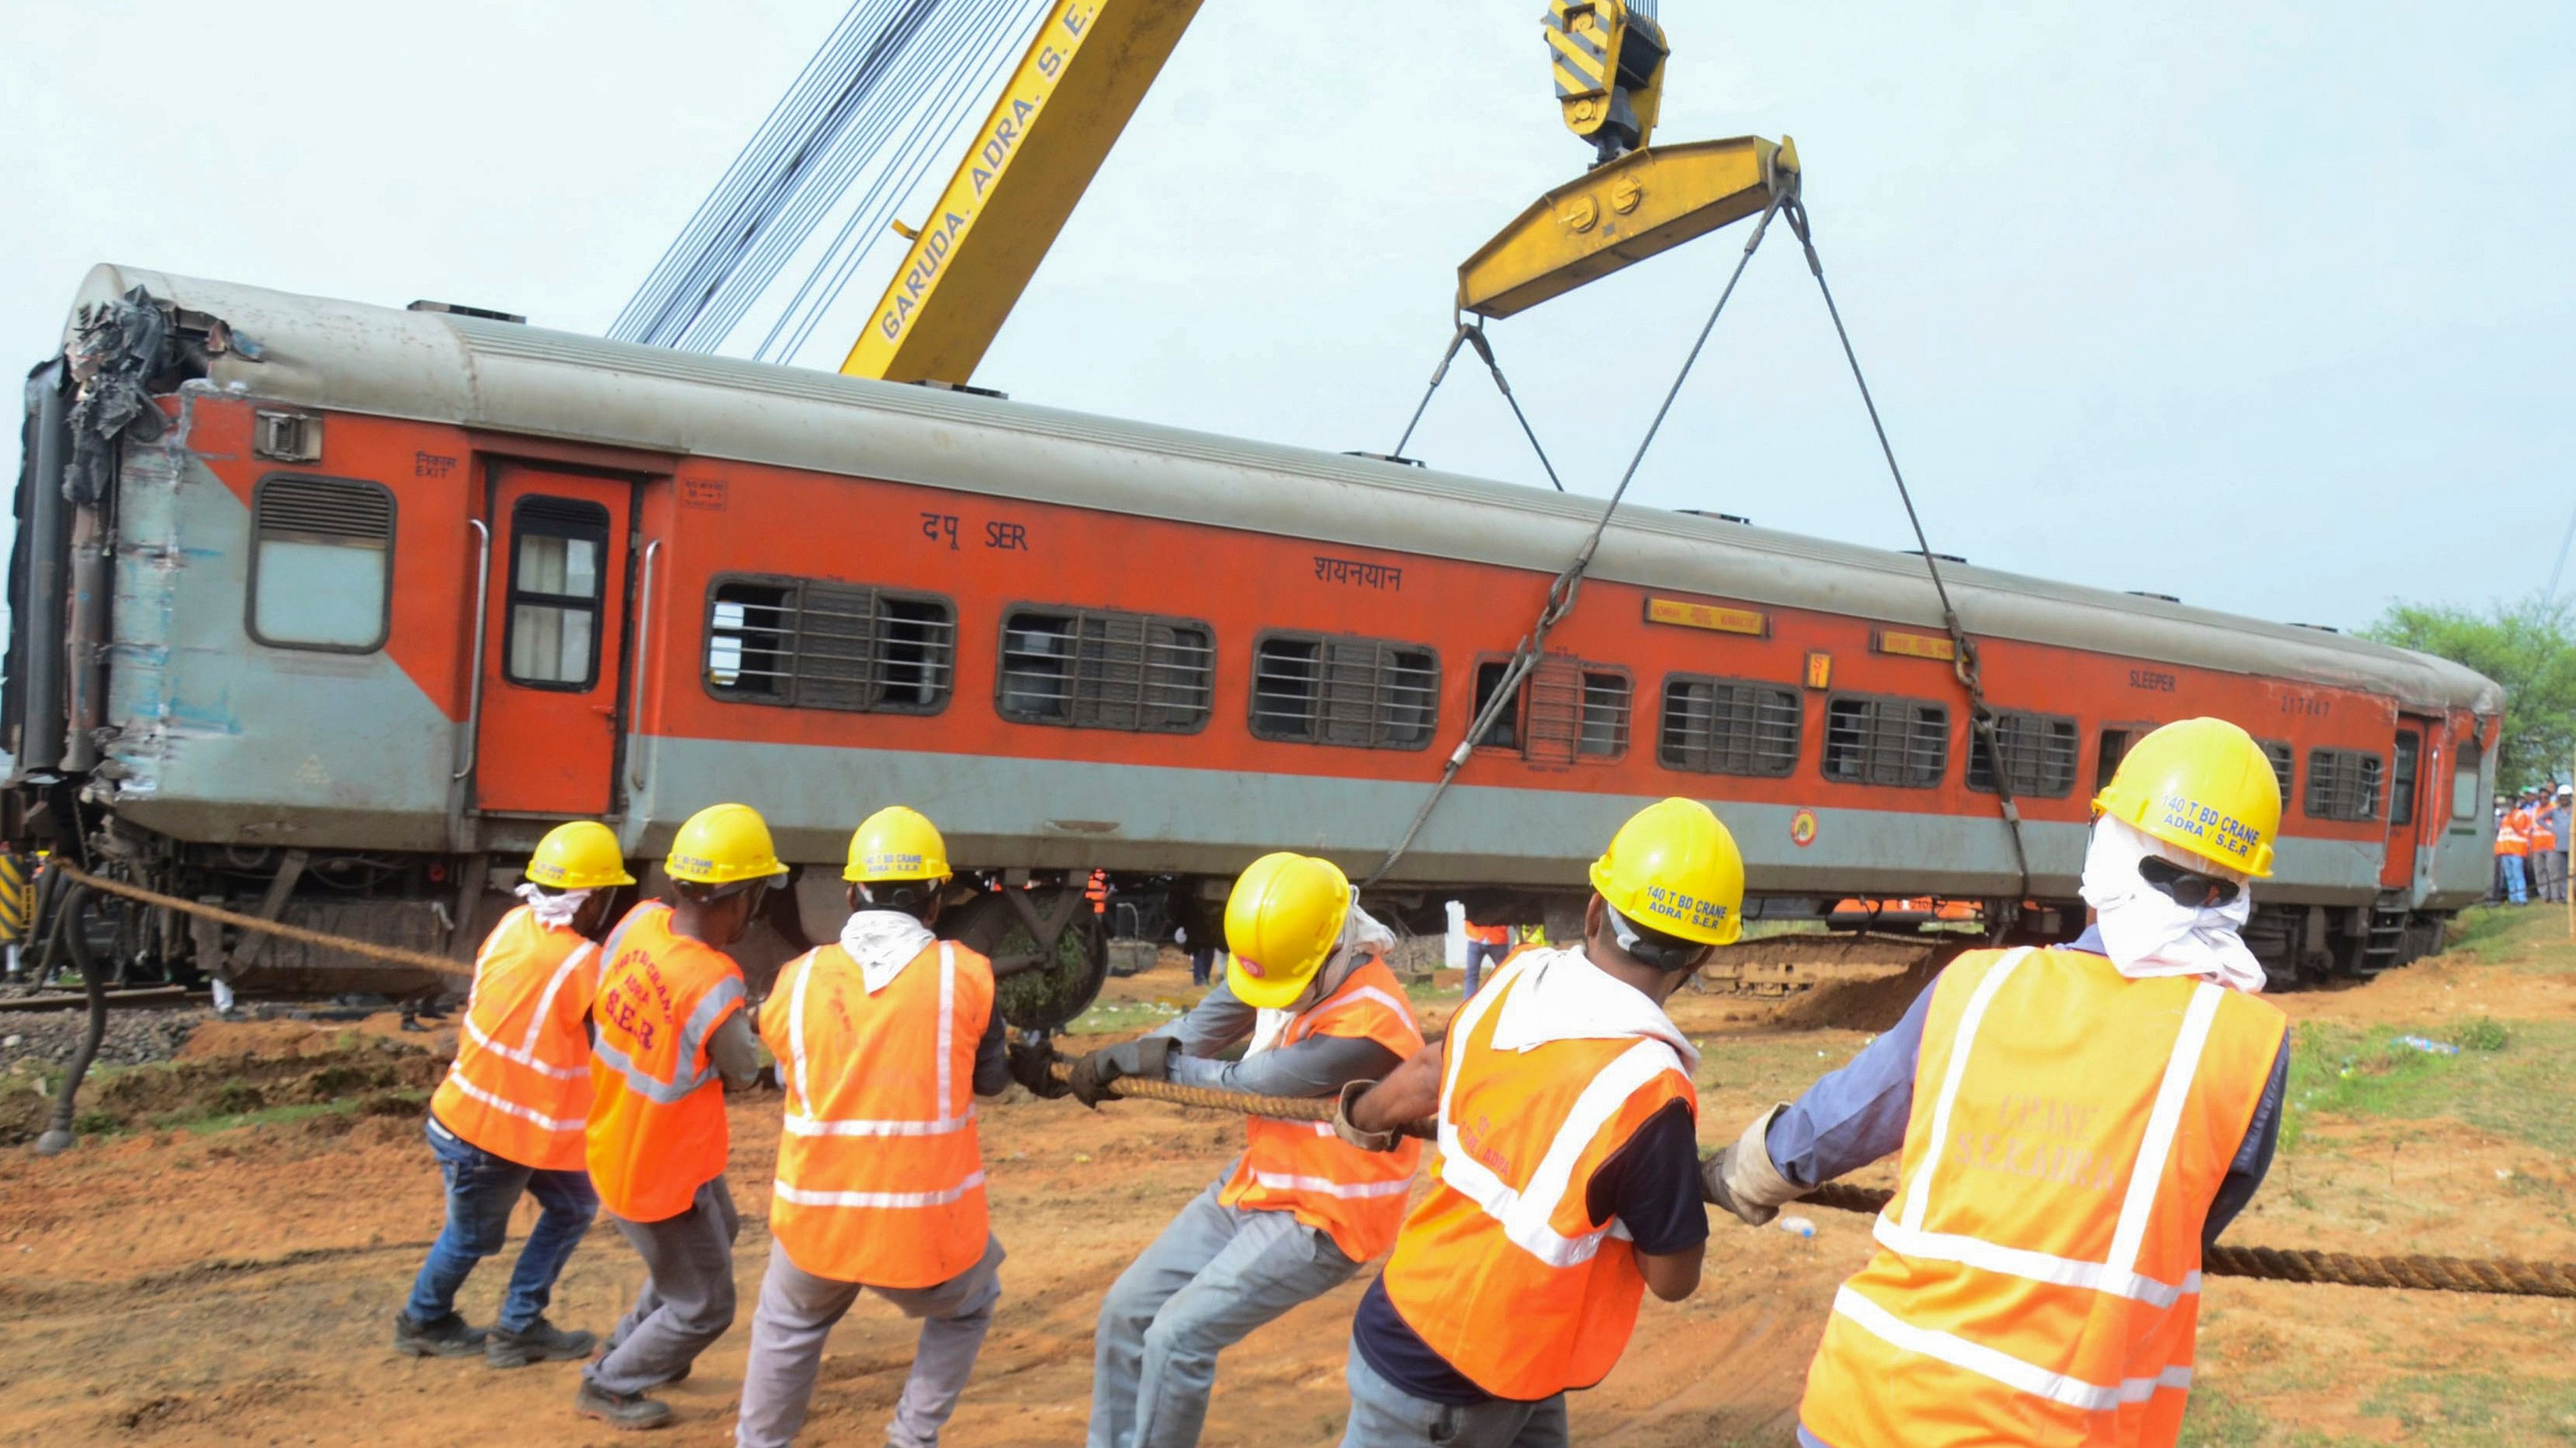
[[[698,1188],[688,1211],[662,1222],[608,1214],[644,1258],[644,1291],[608,1335],[608,1353],[582,1368],[592,1386],[636,1394],[680,1376],[734,1325],[734,1235],[742,1214],[724,1178]]]

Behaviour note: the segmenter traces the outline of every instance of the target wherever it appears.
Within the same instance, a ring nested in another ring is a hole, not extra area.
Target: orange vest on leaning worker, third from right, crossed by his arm
[[[1378,1042],[1409,1060],[1422,1049],[1422,1029],[1404,1003],[1404,988],[1383,959],[1350,972],[1332,995],[1288,1021],[1280,1047],[1311,1036]],[[1342,1255],[1365,1263],[1396,1242],[1404,1193],[1414,1186],[1422,1142],[1404,1139],[1391,1152],[1363,1152],[1332,1134],[1327,1121],[1244,1119],[1244,1155],[1216,1196],[1244,1211],[1293,1211],[1298,1222],[1332,1237]]]

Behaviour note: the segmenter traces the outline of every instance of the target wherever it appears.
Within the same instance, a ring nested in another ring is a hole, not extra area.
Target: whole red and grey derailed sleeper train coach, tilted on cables
[[[1376,867],[1602,507],[129,267],[90,273],[26,396],[15,841],[464,957],[549,826],[603,818],[649,862],[742,800],[799,864],[755,952],[781,959],[837,926],[850,826],[909,802],[969,867],[969,939],[1041,967],[1020,1024],[1097,985],[1095,872],[1206,939],[1267,849]],[[2161,597],[1945,579],[1994,751],[1922,558],[1620,509],[1373,908],[1564,921],[1623,815],[1692,795],[1744,844],[1754,916],[1932,895],[2056,936],[2092,792],[2187,715],[2275,759],[2249,931],[2275,977],[2398,964],[2483,895],[2494,682]],[[160,908],[116,936],[242,988],[379,970]]]

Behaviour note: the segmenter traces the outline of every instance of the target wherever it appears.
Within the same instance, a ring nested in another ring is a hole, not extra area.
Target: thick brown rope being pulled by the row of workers
[[[180,910],[206,921],[219,921],[234,928],[263,931],[278,939],[291,939],[319,949],[337,949],[368,959],[381,959],[389,964],[435,970],[440,975],[456,975],[456,977],[474,975],[469,967],[453,959],[443,959],[417,949],[386,946],[350,936],[335,936],[327,931],[309,931],[304,926],[289,926],[283,921],[263,921],[258,916],[242,916],[237,910],[224,910],[219,905],[204,905],[198,900],[183,900],[178,895],[144,890],[142,885],[126,885],[124,880],[90,874],[88,869],[80,869],[70,862],[57,862],[52,869],[59,869],[64,880],[85,885],[90,890],[103,890],[108,895],[121,895],[126,900],[137,900],[144,905]],[[1051,1065],[1051,1072],[1056,1075],[1056,1080],[1066,1080],[1072,1075],[1072,1062],[1059,1057]],[[62,1088],[64,1101],[70,1101],[70,1093],[77,1091],[77,1085],[80,1085],[77,1078],[64,1083]],[[1121,1078],[1108,1088],[1108,1093],[1133,1101],[1162,1101],[1170,1106],[1236,1111],[1244,1116],[1273,1116],[1280,1121],[1332,1121],[1334,1111],[1332,1101],[1314,1096],[1249,1096],[1239,1091],[1177,1085],[1170,1080]],[[1399,1132],[1419,1139],[1437,1137],[1432,1121],[1406,1121],[1404,1127],[1399,1127]],[[1806,1193],[1801,1201],[1832,1211],[1875,1214],[1886,1209],[1888,1199],[1891,1199],[1888,1191],[1826,1183]],[[2517,1258],[2427,1258],[2427,1255],[2365,1258],[2352,1253],[2316,1253],[2295,1247],[2215,1245],[2202,1253],[2202,1271],[2223,1278],[2576,1299],[2576,1263],[2524,1263]]]

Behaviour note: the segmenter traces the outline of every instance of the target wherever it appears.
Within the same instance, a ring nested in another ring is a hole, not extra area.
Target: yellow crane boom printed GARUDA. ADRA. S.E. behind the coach
[[[1059,0],[886,283],[853,378],[963,383],[1200,0]]]

